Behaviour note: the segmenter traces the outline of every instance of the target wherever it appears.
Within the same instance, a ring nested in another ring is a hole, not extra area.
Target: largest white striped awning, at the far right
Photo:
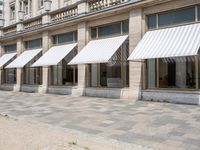
[[[199,23],[148,31],[128,60],[193,56],[199,47]]]

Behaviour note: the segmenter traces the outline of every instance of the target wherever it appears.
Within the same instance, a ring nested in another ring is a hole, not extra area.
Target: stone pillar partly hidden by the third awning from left
[[[43,46],[43,54],[49,50],[50,48],[50,37],[48,32],[43,32],[42,33],[42,46]],[[42,88],[39,89],[40,93],[46,93],[47,88],[48,88],[48,72],[49,68],[48,67],[43,67],[42,68]]]

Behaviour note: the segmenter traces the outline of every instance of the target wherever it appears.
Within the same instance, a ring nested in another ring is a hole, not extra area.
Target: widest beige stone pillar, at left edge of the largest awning
[[[142,38],[142,9],[134,9],[130,11],[129,15],[129,49],[131,53]],[[138,100],[141,99],[143,62],[130,61],[129,65],[129,97]]]

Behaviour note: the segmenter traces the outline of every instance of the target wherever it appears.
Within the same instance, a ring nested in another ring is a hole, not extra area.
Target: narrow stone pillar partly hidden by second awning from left
[[[17,39],[17,56],[19,56],[24,50],[22,38]],[[22,71],[23,69],[17,68],[16,70],[16,85],[14,86],[14,91],[18,92],[21,89],[22,84]]]

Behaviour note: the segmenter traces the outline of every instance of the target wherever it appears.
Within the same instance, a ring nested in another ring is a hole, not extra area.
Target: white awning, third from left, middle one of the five
[[[57,65],[76,47],[77,43],[51,47],[31,67]]]

